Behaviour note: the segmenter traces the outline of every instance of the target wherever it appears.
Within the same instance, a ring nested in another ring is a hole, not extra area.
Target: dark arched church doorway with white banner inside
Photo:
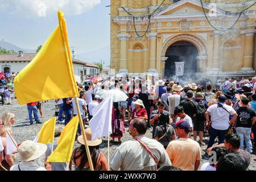
[[[164,77],[179,82],[179,80],[194,80],[197,68],[199,51],[196,46],[187,41],[179,41],[168,47],[164,67]]]

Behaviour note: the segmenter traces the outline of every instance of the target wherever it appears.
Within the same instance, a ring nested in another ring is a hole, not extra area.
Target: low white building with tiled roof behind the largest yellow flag
[[[0,68],[2,71],[10,71],[10,73],[20,72],[34,57],[36,53],[19,53],[3,54],[0,55]],[[77,82],[82,82],[85,78],[92,78],[98,75],[97,65],[88,63],[86,61],[80,61],[72,57],[74,75]],[[56,68],[57,69],[57,68]]]

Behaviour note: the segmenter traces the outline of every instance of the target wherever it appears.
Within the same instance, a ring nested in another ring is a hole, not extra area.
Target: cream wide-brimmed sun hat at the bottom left
[[[22,142],[19,146],[19,155],[22,162],[30,162],[40,158],[47,150],[46,144],[35,143],[31,140]]]

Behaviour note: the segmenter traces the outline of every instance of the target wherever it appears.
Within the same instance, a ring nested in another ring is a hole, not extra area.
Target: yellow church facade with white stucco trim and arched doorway
[[[111,68],[170,77],[181,65],[184,74],[254,76],[256,5],[237,20],[254,2],[204,1],[204,14],[199,0],[112,0]]]

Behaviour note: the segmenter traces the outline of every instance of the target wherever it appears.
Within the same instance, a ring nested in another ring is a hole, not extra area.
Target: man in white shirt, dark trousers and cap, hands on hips
[[[218,104],[210,106],[205,112],[205,118],[207,119],[210,131],[210,139],[207,148],[213,146],[216,137],[218,137],[218,144],[224,143],[225,135],[228,133],[230,123],[233,123],[237,119],[236,111],[231,106],[226,105],[225,101],[226,96],[218,96]],[[229,119],[230,115],[232,115],[231,120]]]

